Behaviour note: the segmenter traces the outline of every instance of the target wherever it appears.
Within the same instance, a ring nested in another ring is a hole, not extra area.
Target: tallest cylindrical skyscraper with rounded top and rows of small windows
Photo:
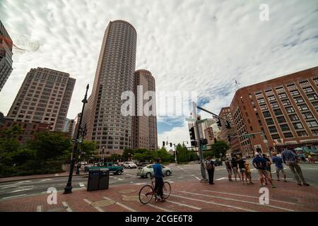
[[[121,114],[124,91],[134,90],[137,33],[123,20],[110,21],[102,40],[93,91],[83,113],[86,139],[96,141],[105,156],[131,148],[132,116]]]

